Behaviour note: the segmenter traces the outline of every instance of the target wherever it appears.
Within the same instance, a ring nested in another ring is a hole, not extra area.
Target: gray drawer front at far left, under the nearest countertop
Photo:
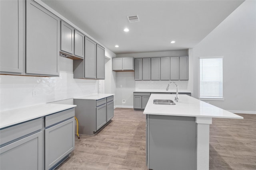
[[[20,123],[0,130],[0,145],[42,129],[42,118]]]

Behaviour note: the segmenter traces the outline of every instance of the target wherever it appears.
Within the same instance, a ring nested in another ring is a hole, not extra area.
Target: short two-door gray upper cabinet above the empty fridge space
[[[122,57],[112,59],[113,71],[134,71],[134,58]]]

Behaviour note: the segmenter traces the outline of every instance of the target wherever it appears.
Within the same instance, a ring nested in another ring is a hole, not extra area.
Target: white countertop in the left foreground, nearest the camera
[[[69,104],[40,104],[0,112],[0,128],[16,125],[52,113],[76,107]]]

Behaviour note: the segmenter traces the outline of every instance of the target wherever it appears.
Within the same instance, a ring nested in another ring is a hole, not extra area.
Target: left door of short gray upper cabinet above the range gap
[[[60,50],[74,54],[74,28],[61,21]]]

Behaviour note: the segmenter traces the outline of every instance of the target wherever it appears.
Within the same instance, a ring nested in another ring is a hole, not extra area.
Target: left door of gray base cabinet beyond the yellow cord
[[[106,104],[96,107],[96,131],[107,123],[106,112]]]

